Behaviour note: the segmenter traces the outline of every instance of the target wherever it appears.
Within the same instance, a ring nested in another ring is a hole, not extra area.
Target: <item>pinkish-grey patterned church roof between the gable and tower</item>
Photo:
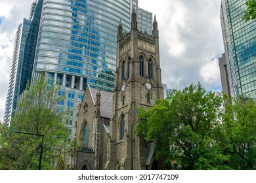
[[[93,105],[96,105],[96,93],[97,89],[91,88],[89,85],[91,97],[93,99]],[[112,116],[112,105],[113,105],[113,93],[100,91],[100,116],[104,118],[111,118]]]

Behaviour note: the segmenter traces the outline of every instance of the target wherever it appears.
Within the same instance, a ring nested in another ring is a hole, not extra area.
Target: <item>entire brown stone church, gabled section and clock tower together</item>
[[[123,35],[119,24],[114,91],[96,92],[88,86],[79,105],[77,144],[83,146],[87,138],[93,152],[77,152],[77,169],[84,165],[87,169],[164,169],[160,159],[154,156],[154,143],[132,134],[140,122],[137,108],[149,109],[157,99],[163,98],[156,17],[153,27],[152,35],[138,31],[135,11],[130,33]],[[110,104],[103,98],[112,102],[111,112]],[[89,159],[92,156],[94,159]]]

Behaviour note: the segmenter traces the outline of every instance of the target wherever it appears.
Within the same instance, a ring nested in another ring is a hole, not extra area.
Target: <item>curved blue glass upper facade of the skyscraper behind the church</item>
[[[45,1],[35,71],[75,76],[75,84],[87,78],[93,88],[112,91],[117,25],[121,20],[128,31],[129,14],[129,0]]]

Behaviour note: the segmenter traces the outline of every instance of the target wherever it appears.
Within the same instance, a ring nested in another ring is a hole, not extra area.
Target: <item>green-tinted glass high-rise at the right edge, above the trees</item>
[[[256,24],[255,20],[242,20],[247,8],[244,3],[244,0],[221,2],[221,27],[232,97],[256,97]]]

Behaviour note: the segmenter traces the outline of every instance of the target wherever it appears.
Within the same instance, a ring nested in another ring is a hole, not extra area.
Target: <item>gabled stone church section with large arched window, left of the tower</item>
[[[100,92],[89,85],[85,90],[75,124],[76,169],[103,169],[106,154],[104,147],[112,116],[112,95],[111,92]]]

